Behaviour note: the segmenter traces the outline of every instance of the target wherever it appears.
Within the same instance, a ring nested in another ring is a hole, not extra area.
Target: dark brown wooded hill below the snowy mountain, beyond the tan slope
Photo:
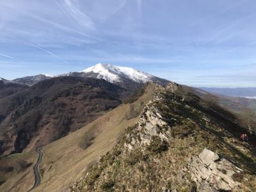
[[[0,99],[0,154],[33,150],[116,108],[129,91],[104,79],[57,77]]]

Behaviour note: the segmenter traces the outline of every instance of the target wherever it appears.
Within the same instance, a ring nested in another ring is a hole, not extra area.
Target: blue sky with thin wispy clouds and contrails
[[[96,63],[191,86],[256,86],[255,0],[1,0],[0,77]]]

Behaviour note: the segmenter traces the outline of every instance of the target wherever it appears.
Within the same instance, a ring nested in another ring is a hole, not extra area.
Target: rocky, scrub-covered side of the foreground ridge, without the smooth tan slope
[[[177,84],[155,95],[72,191],[255,191],[255,136]],[[147,178],[147,179],[146,179]]]

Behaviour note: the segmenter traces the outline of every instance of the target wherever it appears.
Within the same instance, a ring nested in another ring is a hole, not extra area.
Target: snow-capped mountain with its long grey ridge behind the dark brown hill
[[[36,76],[21,77],[18,79],[13,79],[12,81],[31,86],[40,81],[44,81],[45,79],[51,79],[52,77],[63,77],[63,76],[93,77],[97,79],[105,79],[110,83],[118,84],[128,89],[138,88],[138,84],[144,84],[148,81],[164,84],[164,85],[170,82],[170,81],[167,81],[166,79],[161,79],[159,77],[152,76],[150,74],[141,72],[134,68],[119,67],[116,65],[104,64],[104,63],[98,63],[97,65],[90,68],[86,68],[81,72],[69,72],[67,74],[60,74],[56,76],[39,74]],[[134,85],[134,87],[131,87],[132,84]]]

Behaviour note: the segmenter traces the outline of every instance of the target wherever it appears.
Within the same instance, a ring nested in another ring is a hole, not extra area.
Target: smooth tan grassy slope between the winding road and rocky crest
[[[124,129],[134,125],[144,104],[152,99],[158,89],[149,84],[145,93],[134,103],[123,104],[91,124],[43,147],[44,157],[40,164],[42,182],[35,191],[68,188],[71,182],[82,177],[86,169],[115,146]],[[34,155],[35,159],[36,157]],[[0,186],[1,191],[8,191],[12,187],[13,191],[18,191],[17,182],[22,174],[24,173],[21,172],[15,178],[7,180],[4,186]],[[33,172],[27,175],[30,182],[34,181]],[[24,188],[29,189],[30,182],[24,183]]]

